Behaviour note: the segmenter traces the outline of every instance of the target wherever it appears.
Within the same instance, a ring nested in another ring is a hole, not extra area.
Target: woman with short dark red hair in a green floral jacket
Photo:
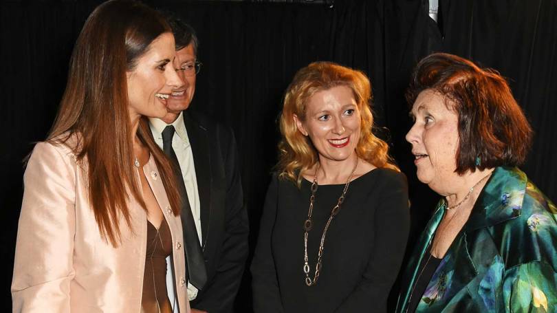
[[[397,312],[555,312],[557,210],[525,173],[532,130],[501,76],[450,54],[417,65],[417,177],[442,195]]]

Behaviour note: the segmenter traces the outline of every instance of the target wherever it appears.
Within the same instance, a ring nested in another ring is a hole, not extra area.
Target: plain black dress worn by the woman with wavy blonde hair
[[[303,222],[311,184],[303,180],[298,189],[276,175],[272,179],[251,268],[254,311],[386,312],[408,239],[406,177],[375,169],[350,183],[327,232],[317,285],[308,287]],[[323,228],[344,186],[320,185],[316,192],[307,248],[312,278]]]

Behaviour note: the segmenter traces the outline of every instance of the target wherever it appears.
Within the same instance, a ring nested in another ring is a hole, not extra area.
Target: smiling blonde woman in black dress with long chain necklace
[[[367,77],[312,63],[288,87],[252,263],[255,312],[385,312],[408,236],[406,177],[373,136]]]

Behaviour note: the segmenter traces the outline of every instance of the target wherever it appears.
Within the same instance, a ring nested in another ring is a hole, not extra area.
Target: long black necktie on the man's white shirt
[[[182,226],[184,226],[184,244],[186,250],[186,272],[190,283],[198,290],[201,290],[207,281],[207,272],[205,270],[205,261],[203,258],[203,250],[199,245],[199,237],[197,237],[197,230],[195,230],[195,222],[191,213],[190,202],[188,201],[188,193],[186,185],[184,184],[184,177],[178,163],[176,153],[172,148],[172,138],[174,137],[175,129],[172,125],[168,125],[162,131],[162,150],[175,164],[177,170],[177,185],[180,197],[182,197]]]

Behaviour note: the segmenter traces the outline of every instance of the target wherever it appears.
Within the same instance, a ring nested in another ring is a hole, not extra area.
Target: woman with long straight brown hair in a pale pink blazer
[[[54,127],[25,170],[14,312],[189,312],[173,165],[146,120],[183,85],[174,57],[166,21],[138,2],[87,19]]]

